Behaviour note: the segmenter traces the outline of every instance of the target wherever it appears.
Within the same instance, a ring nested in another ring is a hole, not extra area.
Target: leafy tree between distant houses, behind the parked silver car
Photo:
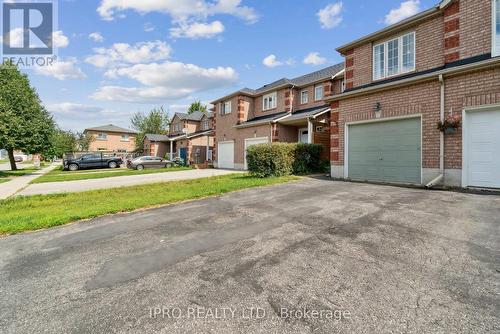
[[[164,134],[170,123],[168,113],[163,107],[155,108],[149,113],[136,113],[130,120],[132,128],[139,132],[135,140],[136,150],[142,150],[142,142],[148,133]]]

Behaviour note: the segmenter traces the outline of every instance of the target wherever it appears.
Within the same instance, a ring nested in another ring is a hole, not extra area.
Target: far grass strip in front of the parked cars
[[[75,172],[63,171],[60,168],[53,170],[35,180],[31,183],[46,183],[46,182],[61,182],[61,181],[77,181],[77,180],[90,180],[90,179],[102,179],[105,177],[115,177],[115,176],[128,176],[128,175],[140,175],[140,174],[156,174],[156,173],[166,173],[166,172],[178,172],[182,170],[189,170],[189,167],[172,167],[172,168],[161,168],[161,169],[145,169],[145,170],[134,170],[134,169],[101,169],[101,170],[79,170]]]

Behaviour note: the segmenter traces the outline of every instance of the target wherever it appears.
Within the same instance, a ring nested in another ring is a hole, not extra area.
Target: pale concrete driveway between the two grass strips
[[[199,179],[203,177],[221,176],[238,173],[234,170],[199,169],[179,172],[166,172],[158,174],[142,174],[132,176],[116,176],[104,179],[90,179],[80,181],[49,182],[30,184],[17,193],[18,196],[45,195],[66,192],[80,192],[96,189],[109,189],[141,184]]]

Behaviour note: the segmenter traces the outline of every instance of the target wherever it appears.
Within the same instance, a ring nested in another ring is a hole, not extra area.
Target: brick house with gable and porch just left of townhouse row
[[[213,120],[213,113],[175,113],[168,134],[146,134],[144,153],[170,159],[179,157],[190,165],[211,163],[214,146]]]

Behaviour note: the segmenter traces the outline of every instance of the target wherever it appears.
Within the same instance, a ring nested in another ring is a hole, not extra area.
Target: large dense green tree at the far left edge
[[[7,150],[16,170],[14,150],[42,153],[51,146],[55,129],[27,75],[10,62],[0,66],[0,147]]]

